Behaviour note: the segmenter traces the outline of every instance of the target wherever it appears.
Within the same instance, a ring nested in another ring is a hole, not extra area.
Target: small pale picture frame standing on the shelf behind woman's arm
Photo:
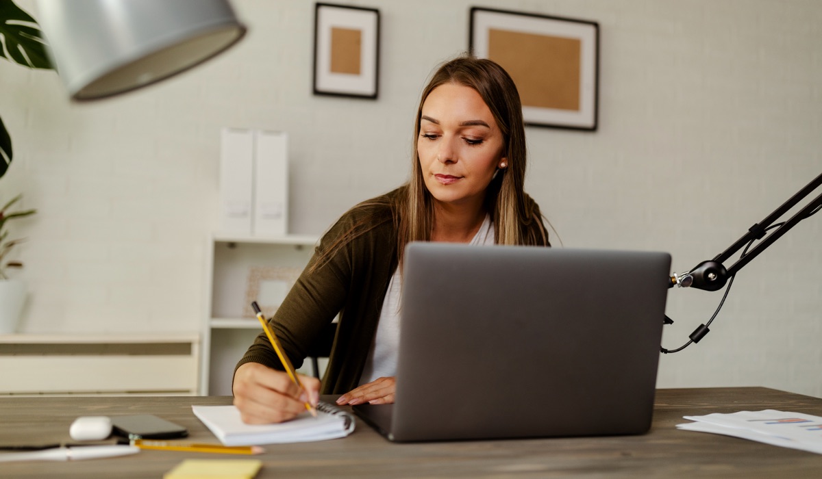
[[[252,302],[260,306],[263,316],[270,318],[297,282],[302,269],[284,266],[252,267],[248,271],[244,317],[253,318]]]

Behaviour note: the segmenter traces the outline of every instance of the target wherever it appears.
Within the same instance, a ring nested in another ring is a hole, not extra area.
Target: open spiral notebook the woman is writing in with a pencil
[[[317,404],[308,412],[279,424],[246,424],[236,406],[192,406],[194,415],[227,446],[284,444],[344,437],[354,430],[354,417],[333,404]]]

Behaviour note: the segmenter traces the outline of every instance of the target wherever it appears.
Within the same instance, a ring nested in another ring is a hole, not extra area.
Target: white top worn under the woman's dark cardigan
[[[491,215],[487,214],[483,225],[479,227],[477,234],[469,243],[471,245],[485,246],[494,244],[494,223]],[[399,300],[403,279],[399,274],[399,268],[394,272],[388,284],[386,298],[382,302],[380,312],[380,322],[376,325],[374,343],[363,368],[363,375],[360,375],[360,385],[370,383],[377,378],[393,376],[397,374],[397,350],[399,349]]]

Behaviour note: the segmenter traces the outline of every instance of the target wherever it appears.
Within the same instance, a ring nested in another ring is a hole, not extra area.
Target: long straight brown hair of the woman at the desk
[[[525,127],[522,118],[520,94],[508,72],[496,62],[485,58],[462,55],[444,62],[436,69],[428,81],[419,100],[417,116],[414,118],[412,172],[409,182],[387,200],[395,212],[397,228],[397,254],[402,266],[405,246],[414,241],[430,241],[434,223],[432,195],[425,186],[423,172],[419,164],[417,140],[420,134],[420,120],[423,104],[428,95],[438,86],[446,83],[465,85],[477,90],[502,132],[507,168],[498,170],[488,185],[485,207],[492,214],[495,242],[502,245],[548,245],[547,232],[542,223],[537,205],[524,191],[525,169],[527,166]],[[367,200],[358,207],[386,205],[386,199]],[[348,233],[326,249],[324,258],[314,266],[319,267],[354,237],[376,227],[368,218],[353,225]]]

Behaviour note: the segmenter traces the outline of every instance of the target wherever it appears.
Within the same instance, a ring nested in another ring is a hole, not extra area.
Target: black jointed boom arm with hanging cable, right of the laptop
[[[661,352],[668,353],[681,351],[690,343],[699,343],[700,339],[702,339],[705,334],[708,334],[708,326],[717,316],[719,310],[722,309],[727,293],[731,290],[733,278],[737,274],[737,271],[750,263],[750,260],[753,260],[756,256],[758,256],[762,251],[764,251],[765,248],[770,246],[771,243],[775,242],[779,239],[779,237],[782,237],[783,234],[787,233],[787,230],[793,228],[801,220],[809,218],[810,215],[815,214],[822,209],[822,194],[820,194],[820,196],[816,196],[814,200],[811,200],[810,203],[799,210],[790,219],[787,219],[787,221],[774,224],[774,221],[781,218],[783,214],[786,214],[788,210],[791,210],[793,206],[797,205],[797,203],[799,203],[803,198],[810,195],[810,193],[817,187],[820,187],[820,185],[822,185],[822,174],[815,177],[814,180],[808,183],[806,187],[802,188],[800,191],[797,191],[797,194],[792,196],[782,206],[774,210],[773,213],[769,214],[768,217],[763,219],[761,223],[755,223],[753,226],[748,228],[748,233],[739,238],[737,242],[733,243],[719,256],[716,256],[713,260],[701,262],[687,273],[673,274],[670,282],[668,283],[668,288],[673,288],[674,285],[676,285],[681,288],[697,288],[704,289],[705,291],[717,291],[718,289],[723,288],[723,286],[727,283],[727,289],[725,290],[722,301],[719,302],[717,310],[713,313],[713,316],[711,316],[711,319],[708,321],[707,325],[700,325],[700,327],[695,329],[689,336],[690,341],[681,346],[681,348],[673,350],[660,348]],[[766,233],[773,228],[777,229],[765,237]],[[754,249],[748,252],[748,248],[750,248],[750,246],[757,240],[762,241],[759,242]],[[727,261],[734,253],[739,251],[742,246],[745,246],[745,250],[742,251],[739,260],[737,260],[737,262],[730,268],[726,268],[723,263]],[[672,323],[673,320],[665,316],[665,324],[670,325]]]

